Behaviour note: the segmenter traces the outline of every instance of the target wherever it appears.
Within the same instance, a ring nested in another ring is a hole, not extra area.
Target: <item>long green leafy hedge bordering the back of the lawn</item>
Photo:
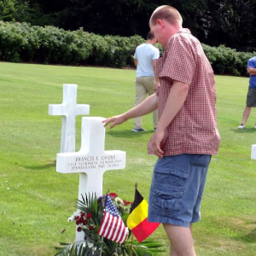
[[[55,26],[0,21],[2,61],[125,67],[133,64],[132,55],[143,42],[140,36],[100,36],[82,29],[70,32]],[[245,75],[247,60],[256,55],[256,52],[236,52],[224,45],[202,46],[217,74]],[[162,53],[159,44],[157,47]]]

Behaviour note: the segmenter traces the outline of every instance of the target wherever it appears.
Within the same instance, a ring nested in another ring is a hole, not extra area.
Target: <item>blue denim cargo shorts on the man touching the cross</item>
[[[178,154],[157,160],[148,200],[148,221],[189,227],[200,220],[209,154]]]

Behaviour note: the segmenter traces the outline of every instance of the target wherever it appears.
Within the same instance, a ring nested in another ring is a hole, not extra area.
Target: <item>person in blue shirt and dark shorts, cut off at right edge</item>
[[[256,107],[256,56],[247,61],[247,73],[250,74],[249,88],[247,92],[247,106],[243,111],[241,125],[237,127],[238,129],[245,128],[251,109]],[[254,127],[256,129],[256,124]]]

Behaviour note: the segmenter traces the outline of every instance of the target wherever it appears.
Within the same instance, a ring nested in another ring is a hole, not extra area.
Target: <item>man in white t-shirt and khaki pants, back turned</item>
[[[145,98],[154,94],[155,89],[159,85],[159,80],[155,75],[155,63],[160,56],[160,51],[156,47],[156,40],[151,32],[148,32],[145,44],[137,46],[134,55],[134,65],[137,67],[136,72],[136,97],[134,107],[143,102]],[[154,131],[158,125],[157,110],[153,112]],[[134,119],[132,131],[145,131],[143,129],[142,117]]]

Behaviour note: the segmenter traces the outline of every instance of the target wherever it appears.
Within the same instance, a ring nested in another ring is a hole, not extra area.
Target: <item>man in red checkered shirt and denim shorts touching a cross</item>
[[[148,221],[162,223],[171,256],[195,256],[192,223],[200,220],[201,197],[212,154],[218,153],[216,90],[201,43],[182,26],[177,9],[161,6],[149,20],[164,48],[156,62],[160,86],[141,105],[105,120],[110,128],[158,108],[159,124],[148,143],[154,166]]]

